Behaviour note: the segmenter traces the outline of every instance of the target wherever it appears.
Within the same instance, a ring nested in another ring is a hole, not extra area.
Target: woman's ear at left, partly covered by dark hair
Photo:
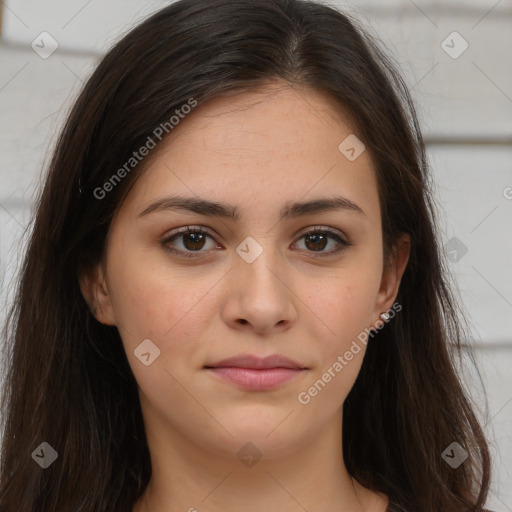
[[[105,325],[116,325],[104,276],[105,271],[99,263],[93,268],[81,271],[78,282],[82,295],[96,320]]]

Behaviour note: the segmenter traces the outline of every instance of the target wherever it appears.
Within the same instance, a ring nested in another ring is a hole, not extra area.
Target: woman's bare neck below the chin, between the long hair
[[[148,439],[159,443],[150,442],[151,481],[133,512],[384,512],[387,500],[348,474],[340,432],[341,417],[274,458],[247,443],[231,457],[185,438],[165,444],[164,432],[153,432]]]

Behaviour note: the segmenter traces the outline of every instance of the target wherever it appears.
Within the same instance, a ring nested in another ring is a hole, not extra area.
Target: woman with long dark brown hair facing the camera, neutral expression
[[[60,136],[6,342],[0,510],[479,511],[422,137],[357,24],[182,0]]]

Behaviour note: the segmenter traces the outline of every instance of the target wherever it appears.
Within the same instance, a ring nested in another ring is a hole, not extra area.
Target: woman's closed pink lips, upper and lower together
[[[300,375],[306,368],[291,359],[271,355],[242,355],[205,367],[223,380],[250,391],[268,391]]]

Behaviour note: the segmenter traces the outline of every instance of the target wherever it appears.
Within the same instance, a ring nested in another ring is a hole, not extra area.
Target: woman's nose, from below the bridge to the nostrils
[[[269,335],[290,329],[297,320],[297,295],[289,273],[265,248],[252,263],[235,260],[225,281],[223,320],[231,328]]]

